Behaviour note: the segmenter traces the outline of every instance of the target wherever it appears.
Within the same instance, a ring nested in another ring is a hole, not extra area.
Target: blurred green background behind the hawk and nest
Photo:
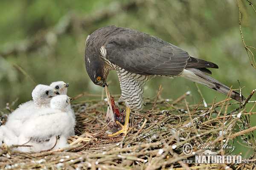
[[[239,88],[239,79],[245,97],[256,88],[256,69],[241,41],[236,0],[1,0],[0,8],[0,108],[15,99],[15,107],[32,99],[34,85],[12,64],[37,84],[69,82],[69,96],[101,94],[102,88],[86,73],[84,48],[87,35],[108,25],[152,34],[193,57],[218,64],[212,77],[233,89]],[[255,47],[256,14],[246,0],[241,2],[241,13],[244,40]],[[110,80],[111,94],[120,94],[115,71]],[[175,100],[190,90],[189,102],[201,101],[195,84],[183,78],[152,79],[144,95],[156,96],[160,85],[164,99]],[[207,103],[215,96],[217,102],[225,99],[209,88],[199,88]]]

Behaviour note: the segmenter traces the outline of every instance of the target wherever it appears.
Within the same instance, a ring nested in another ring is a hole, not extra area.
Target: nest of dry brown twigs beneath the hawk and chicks
[[[249,98],[253,95],[249,96]],[[182,96],[175,102],[169,100],[146,100],[154,104],[151,111],[131,113],[131,130],[127,137],[109,137],[105,133],[105,111],[107,102],[73,104],[76,111],[76,134],[94,133],[89,142],[81,142],[69,148],[50,150],[41,153],[22,153],[11,148],[1,147],[1,169],[101,169],[101,170],[154,170],[154,169],[253,169],[255,154],[247,164],[186,164],[184,159],[194,159],[196,153],[205,149],[195,149],[194,154],[185,155],[183,144],[232,144],[241,139],[246,147],[255,151],[256,139],[253,136],[250,115],[256,112],[245,111],[244,104],[223,102],[212,103],[210,107],[188,105]],[[122,106],[121,106],[122,105]],[[237,108],[229,111],[230,107]],[[120,103],[119,107],[125,107]],[[253,105],[254,107],[254,105]],[[164,110],[163,110],[164,109]],[[240,129],[238,129],[239,127]],[[212,150],[219,155],[232,155],[229,149]]]

